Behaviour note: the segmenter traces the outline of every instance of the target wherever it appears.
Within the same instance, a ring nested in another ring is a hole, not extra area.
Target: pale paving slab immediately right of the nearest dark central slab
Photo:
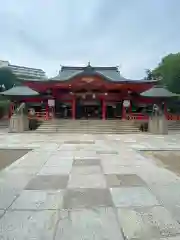
[[[159,205],[156,197],[145,187],[111,188],[110,191],[116,207]]]

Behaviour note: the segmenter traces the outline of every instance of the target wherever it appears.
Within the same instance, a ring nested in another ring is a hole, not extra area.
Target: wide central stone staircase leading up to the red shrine
[[[137,126],[126,120],[64,120],[53,119],[43,122],[36,133],[67,134],[127,134],[139,133]]]

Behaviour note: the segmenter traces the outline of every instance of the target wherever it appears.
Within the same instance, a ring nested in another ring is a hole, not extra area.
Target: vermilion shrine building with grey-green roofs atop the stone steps
[[[157,80],[126,79],[118,67],[88,64],[62,66],[54,78],[22,81],[23,86],[3,94],[34,106],[37,112],[45,111],[48,117],[126,119],[133,116],[132,105],[138,108],[158,101],[158,97],[142,96],[156,83]]]

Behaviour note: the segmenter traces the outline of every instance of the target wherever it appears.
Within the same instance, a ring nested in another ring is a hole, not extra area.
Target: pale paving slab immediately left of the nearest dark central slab
[[[14,201],[10,209],[13,210],[51,210],[62,209],[63,190],[38,191],[24,190]]]

